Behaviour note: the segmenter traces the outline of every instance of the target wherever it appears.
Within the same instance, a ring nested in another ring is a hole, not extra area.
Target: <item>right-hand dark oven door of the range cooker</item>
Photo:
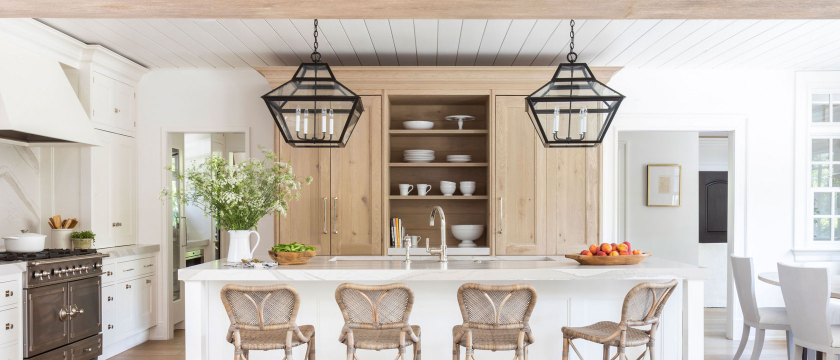
[[[90,337],[102,330],[102,280],[95,278],[71,281],[68,305],[71,309],[70,342]]]

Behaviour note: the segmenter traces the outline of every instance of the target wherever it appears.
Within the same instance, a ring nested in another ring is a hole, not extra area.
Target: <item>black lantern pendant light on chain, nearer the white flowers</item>
[[[344,148],[363,112],[361,97],[335,80],[318,52],[318,19],[311,63],[262,96],[286,143],[296,148]]]

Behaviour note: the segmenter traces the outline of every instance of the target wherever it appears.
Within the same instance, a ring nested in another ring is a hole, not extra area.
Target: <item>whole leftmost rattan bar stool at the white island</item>
[[[234,360],[247,360],[250,350],[286,350],[307,344],[306,360],[315,360],[315,327],[297,326],[300,295],[289,284],[222,287],[222,304],[228,311],[228,342],[234,344]]]

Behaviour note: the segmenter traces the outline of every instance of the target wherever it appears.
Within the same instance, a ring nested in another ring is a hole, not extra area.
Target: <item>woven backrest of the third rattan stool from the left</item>
[[[466,324],[504,328],[528,325],[537,290],[530,284],[483,285],[468,283],[458,289],[458,303]],[[506,326],[507,325],[507,326]]]

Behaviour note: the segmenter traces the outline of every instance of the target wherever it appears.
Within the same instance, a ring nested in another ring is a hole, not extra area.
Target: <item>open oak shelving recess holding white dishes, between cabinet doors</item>
[[[447,246],[458,247],[459,240],[452,236],[452,225],[484,225],[485,232],[475,243],[477,248],[457,248],[455,253],[480,255],[488,254],[491,238],[488,234],[490,196],[490,95],[389,95],[386,97],[387,148],[386,161],[386,199],[387,220],[393,217],[402,219],[409,235],[431,238],[432,246],[438,246],[440,237],[439,220],[435,226],[428,225],[429,213],[433,206],[441,206],[446,214]],[[458,129],[458,122],[447,121],[450,115],[470,115],[474,121],[464,123],[464,129]],[[429,130],[410,130],[402,122],[424,120],[434,123]],[[402,152],[407,149],[434,150],[432,163],[406,163],[402,161]],[[447,163],[450,154],[468,154],[470,163]],[[448,180],[475,181],[473,196],[463,196],[459,190],[454,196],[444,196],[440,191],[440,181]],[[408,196],[399,195],[400,184],[412,184],[415,189]],[[417,184],[432,185],[428,196],[417,195]],[[386,248],[390,248],[390,227],[386,222]],[[402,249],[400,249],[402,251]],[[391,249],[389,253],[394,253]],[[450,252],[453,253],[453,252]]]

